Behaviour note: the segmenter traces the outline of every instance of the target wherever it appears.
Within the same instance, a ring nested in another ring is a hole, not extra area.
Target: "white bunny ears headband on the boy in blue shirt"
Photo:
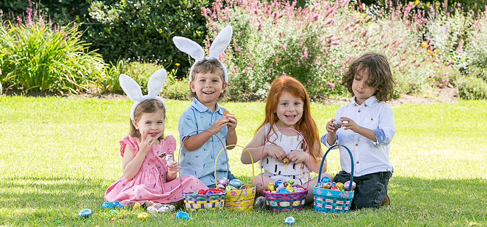
[[[225,82],[228,83],[228,73],[226,72],[225,65],[223,65],[220,59],[218,59],[218,56],[220,56],[220,54],[225,51],[228,44],[230,44],[230,40],[232,39],[232,32],[232,26],[228,25],[220,32],[220,34],[216,36],[215,40],[213,40],[213,43],[211,43],[208,57],[205,57],[205,51],[195,41],[181,36],[174,36],[172,38],[174,45],[176,45],[176,47],[180,51],[189,54],[189,56],[191,56],[195,60],[193,66],[191,66],[191,70],[189,70],[189,81],[192,80],[191,75],[193,74],[194,66],[198,62],[203,61],[203,59],[217,59],[218,62],[220,62],[220,64],[222,65],[223,73],[225,74]]]

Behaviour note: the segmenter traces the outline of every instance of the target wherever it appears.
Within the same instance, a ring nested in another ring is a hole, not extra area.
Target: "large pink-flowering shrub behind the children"
[[[310,1],[304,8],[294,4],[216,0],[202,9],[209,37],[227,24],[234,27],[231,47],[220,56],[231,72],[234,98],[263,99],[281,75],[298,78],[311,97],[347,95],[339,84],[342,73],[370,51],[389,58],[397,83],[394,97],[427,89],[427,76],[449,67],[422,47],[424,11],[412,12],[409,5],[387,11],[355,8],[349,0]]]

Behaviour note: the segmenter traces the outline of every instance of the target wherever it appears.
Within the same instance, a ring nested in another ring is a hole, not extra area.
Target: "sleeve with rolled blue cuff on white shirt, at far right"
[[[395,135],[394,112],[389,105],[384,105],[379,117],[377,129],[373,129],[375,134],[375,145],[389,145]]]

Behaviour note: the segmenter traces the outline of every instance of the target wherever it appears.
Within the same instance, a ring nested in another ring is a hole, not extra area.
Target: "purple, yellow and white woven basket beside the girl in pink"
[[[224,146],[224,143],[222,142],[222,140],[217,135],[215,135],[214,133],[207,131],[207,130],[196,130],[196,131],[189,133],[188,136],[195,133],[195,132],[199,132],[199,131],[205,131],[205,132],[209,132],[209,133],[213,134],[216,138],[218,138],[218,140],[220,140],[220,142],[222,143],[222,146]],[[184,138],[183,141],[186,140],[186,138]],[[183,147],[183,145],[182,145],[183,141],[181,141],[181,147],[179,148],[179,157],[181,157],[181,149]],[[224,146],[223,150],[225,150],[225,154],[226,154],[226,147],[225,146]],[[217,160],[218,160],[218,157],[217,157]],[[226,156],[226,160],[227,160],[226,167],[228,168],[228,156]],[[178,162],[179,162],[179,158],[178,158]],[[216,164],[216,160],[215,160],[215,164]],[[179,183],[181,185],[181,190],[183,190],[183,182],[181,180],[181,168],[179,169],[179,172],[180,172],[179,173],[179,175],[180,175],[179,176]],[[215,166],[215,175],[216,175],[216,166]],[[228,177],[228,172],[227,172],[227,177]],[[222,208],[224,207],[226,192],[216,192],[213,194],[193,194],[192,192],[184,192],[183,191],[182,195],[183,195],[183,201],[184,201],[186,210],[192,211],[192,212],[199,212],[199,211],[205,211],[205,210],[222,210]]]

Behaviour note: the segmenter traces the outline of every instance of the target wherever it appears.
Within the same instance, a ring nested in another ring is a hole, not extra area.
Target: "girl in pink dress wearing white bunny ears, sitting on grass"
[[[166,105],[157,97],[165,78],[165,70],[155,72],[149,80],[149,95],[142,96],[135,81],[127,75],[120,75],[122,89],[136,102],[131,110],[129,136],[120,140],[123,175],[105,192],[108,202],[120,201],[124,205],[143,204],[146,201],[151,201],[150,204],[168,204],[182,200],[183,191],[207,189],[203,182],[192,175],[182,176],[181,180],[176,178],[179,164],[172,159],[176,140],[172,136],[164,138]],[[160,83],[159,90],[151,93],[151,83],[157,82]],[[135,86],[140,94],[134,94],[131,90]]]

